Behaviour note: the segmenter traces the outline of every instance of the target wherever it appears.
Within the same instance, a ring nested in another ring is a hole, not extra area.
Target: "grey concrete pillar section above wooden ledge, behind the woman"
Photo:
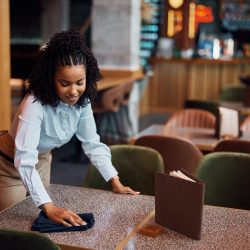
[[[99,67],[107,70],[138,70],[140,0],[92,2],[92,51]]]

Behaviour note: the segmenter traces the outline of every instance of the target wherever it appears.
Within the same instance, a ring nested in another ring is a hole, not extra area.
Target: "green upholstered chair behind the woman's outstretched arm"
[[[110,146],[112,163],[119,173],[123,185],[141,194],[154,195],[154,173],[164,172],[162,156],[156,150],[134,146]],[[111,190],[111,185],[92,165],[89,166],[84,187]]]

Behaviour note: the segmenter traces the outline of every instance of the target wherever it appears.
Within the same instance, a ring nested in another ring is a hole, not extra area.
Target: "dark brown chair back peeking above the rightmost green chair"
[[[250,154],[250,141],[223,140],[218,142],[214,152],[238,152]]]

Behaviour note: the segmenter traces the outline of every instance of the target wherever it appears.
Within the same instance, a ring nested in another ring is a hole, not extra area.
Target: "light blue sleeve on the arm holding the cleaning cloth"
[[[37,146],[40,140],[41,122],[43,119],[41,104],[27,99],[18,118],[14,164],[35,205],[40,206],[51,202],[40,175],[35,168],[38,162]]]

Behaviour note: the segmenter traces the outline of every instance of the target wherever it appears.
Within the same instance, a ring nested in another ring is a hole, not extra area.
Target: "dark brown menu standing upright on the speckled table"
[[[190,238],[201,238],[204,183],[181,169],[195,182],[155,174],[155,222]]]

